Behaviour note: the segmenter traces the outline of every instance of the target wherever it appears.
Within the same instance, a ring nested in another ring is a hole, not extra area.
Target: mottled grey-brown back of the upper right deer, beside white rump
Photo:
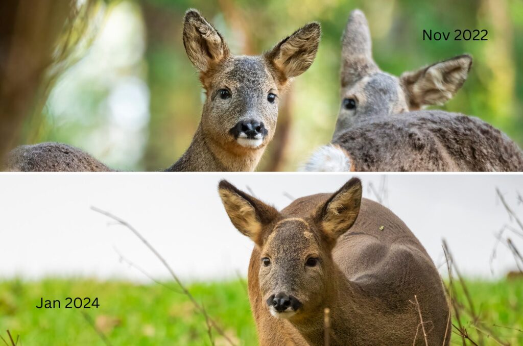
[[[352,171],[523,171],[520,148],[476,117],[421,110],[369,118],[335,134]]]

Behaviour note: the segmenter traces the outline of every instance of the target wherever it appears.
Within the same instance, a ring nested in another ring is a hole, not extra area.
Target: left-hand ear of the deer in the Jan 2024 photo
[[[261,245],[261,230],[279,215],[278,211],[264,202],[236,189],[226,180],[220,181],[218,192],[232,224],[242,234]]]

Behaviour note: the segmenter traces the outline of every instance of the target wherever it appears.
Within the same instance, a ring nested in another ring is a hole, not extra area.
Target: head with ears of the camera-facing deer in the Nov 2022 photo
[[[261,56],[238,56],[209,21],[188,10],[183,38],[207,95],[200,124],[206,140],[237,155],[265,147],[276,130],[279,97],[311,66],[320,36],[312,22]]]

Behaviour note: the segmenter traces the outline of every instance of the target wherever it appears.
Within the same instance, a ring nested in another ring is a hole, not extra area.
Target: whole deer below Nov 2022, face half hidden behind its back
[[[452,98],[472,64],[460,55],[395,77],[372,59],[365,15],[354,10],[342,39],[340,108],[332,145],[307,171],[521,171],[523,155],[475,117],[419,110]]]

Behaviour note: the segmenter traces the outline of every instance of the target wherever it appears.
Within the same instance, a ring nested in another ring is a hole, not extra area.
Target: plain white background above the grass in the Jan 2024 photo
[[[364,197],[376,200],[369,183],[380,175],[358,174]],[[149,250],[91,205],[135,226],[188,280],[246,275],[251,241],[230,223],[217,193],[218,181],[249,186],[258,198],[282,209],[294,198],[334,192],[349,175],[308,174],[45,174],[0,175],[0,278],[14,275],[89,275],[147,281],[119,262],[126,258],[155,278],[168,274]],[[443,261],[446,238],[461,269],[469,276],[492,277],[494,233],[509,217],[496,198],[498,187],[523,218],[521,175],[389,175],[388,206],[426,247],[436,264]],[[520,248],[521,238],[513,237]],[[514,269],[506,248],[499,247],[495,275]],[[442,271],[444,271],[442,269]]]

